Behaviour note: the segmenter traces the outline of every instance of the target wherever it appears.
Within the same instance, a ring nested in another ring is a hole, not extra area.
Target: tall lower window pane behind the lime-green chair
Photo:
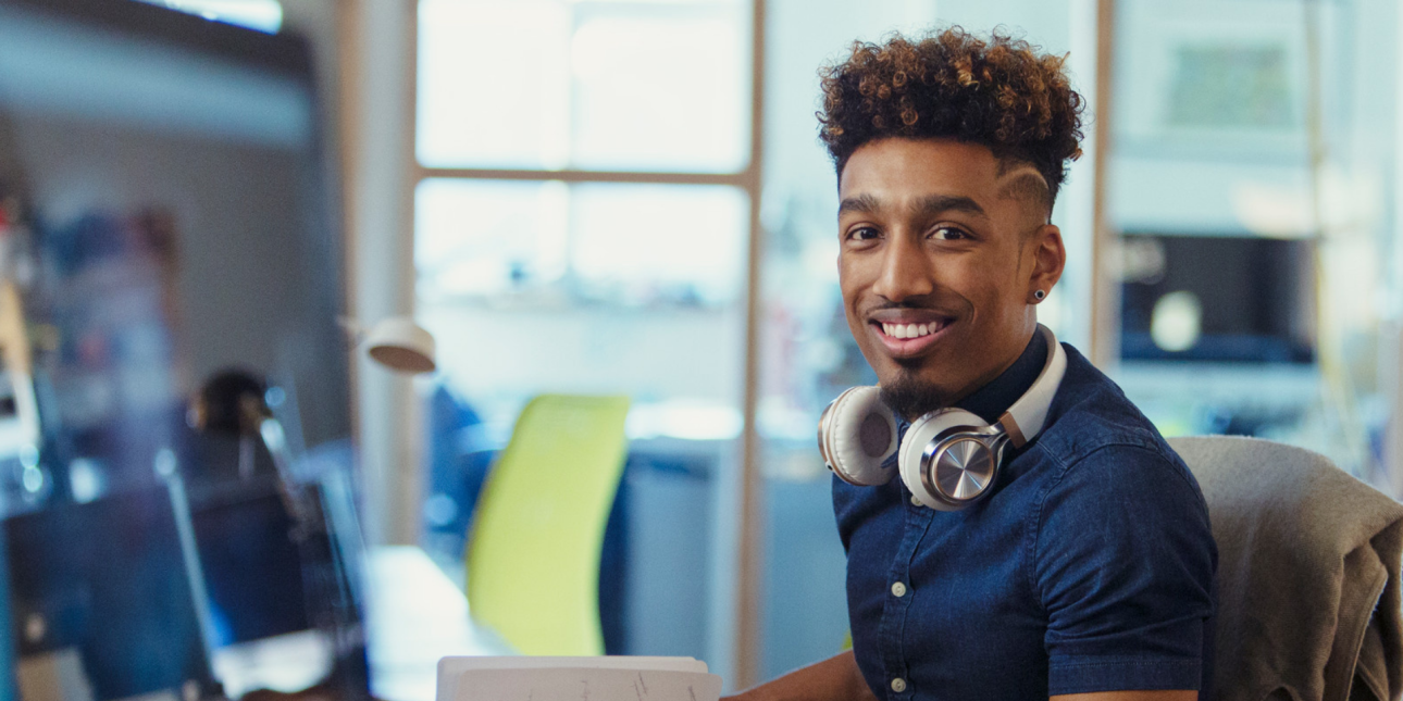
[[[606,651],[724,672],[730,638],[716,621],[734,599],[724,568],[742,429],[745,192],[429,179],[417,206],[417,317],[439,362],[419,386],[425,550],[462,558],[492,451],[529,398],[629,395],[602,558]]]

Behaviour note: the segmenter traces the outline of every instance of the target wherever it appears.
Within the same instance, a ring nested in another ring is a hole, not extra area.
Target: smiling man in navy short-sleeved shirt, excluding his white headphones
[[[996,421],[1049,353],[1035,310],[1066,257],[1049,216],[1080,153],[1061,59],[955,28],[857,43],[824,93],[843,304],[882,400],[906,422],[946,407]],[[1041,433],[986,498],[943,512],[902,479],[835,479],[853,649],[744,698],[1207,694],[1216,550],[1198,485],[1063,348]]]

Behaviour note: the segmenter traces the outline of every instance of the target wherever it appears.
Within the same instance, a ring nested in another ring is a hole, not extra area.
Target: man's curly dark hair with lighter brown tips
[[[853,42],[847,60],[819,72],[819,137],[843,172],[860,146],[885,137],[948,137],[1033,164],[1048,209],[1082,156],[1083,98],[1062,72],[1065,57],[995,29],[989,41],[960,27],[909,41]]]

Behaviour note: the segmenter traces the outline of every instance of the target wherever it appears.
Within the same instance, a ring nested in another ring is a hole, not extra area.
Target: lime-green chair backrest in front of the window
[[[483,488],[469,610],[522,653],[603,655],[599,552],[627,414],[627,397],[536,397]]]

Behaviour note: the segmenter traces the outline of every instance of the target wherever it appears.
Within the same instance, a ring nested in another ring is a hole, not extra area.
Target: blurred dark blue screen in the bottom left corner
[[[14,516],[4,540],[21,693],[215,693],[166,488]],[[45,680],[67,693],[34,688]]]

